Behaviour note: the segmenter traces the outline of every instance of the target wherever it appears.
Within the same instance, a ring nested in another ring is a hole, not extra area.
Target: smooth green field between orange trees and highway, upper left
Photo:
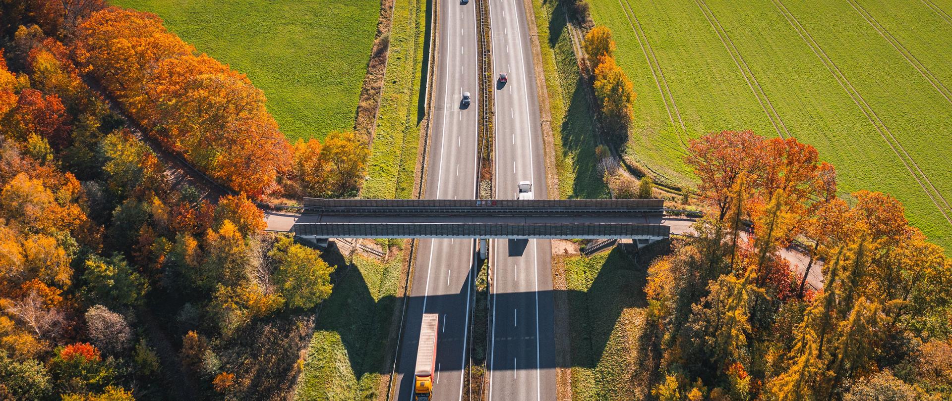
[[[289,139],[353,128],[380,1],[111,0],[248,74]]]

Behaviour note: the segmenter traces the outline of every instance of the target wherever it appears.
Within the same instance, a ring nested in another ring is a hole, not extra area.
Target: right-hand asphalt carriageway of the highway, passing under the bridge
[[[532,181],[546,199],[545,155],[523,0],[490,0],[493,77],[496,83],[495,197],[515,198],[519,181]],[[555,340],[551,243],[493,240],[493,310],[488,361],[492,400],[554,400]],[[507,295],[507,296],[500,296]],[[515,296],[519,295],[519,296]]]

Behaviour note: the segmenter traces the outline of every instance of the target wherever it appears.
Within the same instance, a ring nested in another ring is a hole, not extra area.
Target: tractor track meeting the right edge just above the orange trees
[[[893,136],[892,132],[889,130],[889,127],[886,126],[882,120],[880,120],[880,117],[876,114],[876,111],[874,111],[872,107],[866,103],[865,99],[863,99],[863,96],[860,95],[860,92],[856,90],[855,87],[853,87],[849,80],[846,79],[846,76],[843,75],[840,67],[837,67],[836,64],[833,63],[833,60],[826,55],[826,52],[823,51],[823,48],[820,47],[820,44],[813,39],[813,36],[811,36],[805,28],[803,28],[803,25],[800,24],[800,21],[797,20],[797,17],[794,16],[790,10],[787,10],[786,6],[783,5],[781,0],[771,0],[771,2],[773,3],[774,7],[777,8],[777,10],[780,10],[787,23],[789,23],[790,26],[797,31],[797,34],[800,35],[803,41],[806,42],[807,46],[809,46],[809,48],[813,51],[813,54],[815,54],[820,59],[820,61],[823,63],[823,66],[825,66],[826,69],[828,69],[830,73],[833,74],[833,78],[836,79],[837,83],[840,84],[841,87],[843,87],[843,90],[853,100],[853,103],[860,107],[860,111],[863,111],[863,115],[866,117],[866,120],[868,120],[869,123],[872,124],[874,128],[876,128],[876,131],[879,132],[880,137],[883,138],[883,141],[885,141],[886,144],[889,145],[889,148],[892,149],[893,153],[899,157],[906,170],[908,170],[916,182],[919,183],[922,191],[928,195],[929,199],[932,200],[932,203],[936,205],[937,209],[939,209],[939,213],[942,213],[942,217],[944,217],[945,220],[948,221],[950,225],[952,225],[952,219],[949,218],[949,214],[952,212],[952,207],[950,207],[948,201],[942,197],[942,193],[940,193],[932,181],[929,180],[928,176],[922,172],[919,164],[916,163],[912,156],[910,156],[909,153],[905,151],[905,148],[902,147],[902,143],[900,143],[896,137]],[[944,204],[944,208],[940,202]]]

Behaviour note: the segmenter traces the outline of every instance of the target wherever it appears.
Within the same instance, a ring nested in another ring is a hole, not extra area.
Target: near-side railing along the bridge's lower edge
[[[644,223],[298,223],[294,235],[322,239],[634,239],[667,238],[671,227]]]

